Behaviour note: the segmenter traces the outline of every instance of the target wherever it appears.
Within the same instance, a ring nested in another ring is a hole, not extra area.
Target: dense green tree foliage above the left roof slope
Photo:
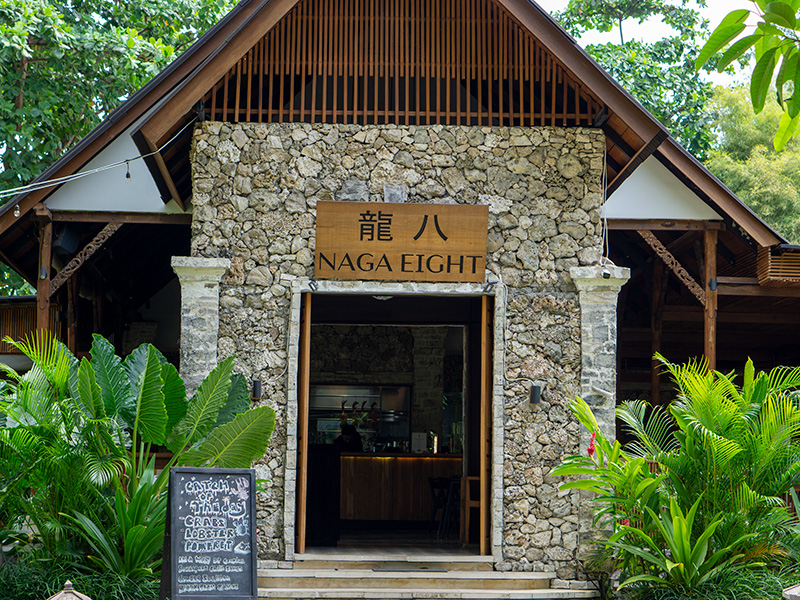
[[[33,179],[232,5],[0,1],[0,187]]]

